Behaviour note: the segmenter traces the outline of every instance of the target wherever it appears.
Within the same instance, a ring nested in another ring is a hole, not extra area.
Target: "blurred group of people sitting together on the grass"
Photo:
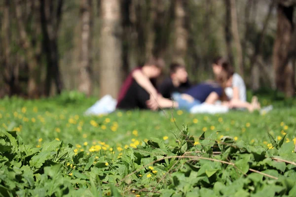
[[[222,57],[213,61],[214,80],[196,85],[190,84],[184,65],[170,65],[170,76],[156,87],[165,63],[159,58],[150,58],[144,66],[133,69],[124,81],[117,100],[117,109],[178,108],[190,110],[203,103],[228,109],[260,108],[257,98],[247,102],[246,86],[242,77]]]

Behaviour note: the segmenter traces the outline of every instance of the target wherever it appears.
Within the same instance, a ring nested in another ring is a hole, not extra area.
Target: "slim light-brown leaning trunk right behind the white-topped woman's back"
[[[234,38],[235,48],[236,48],[236,57],[237,57],[237,67],[239,74],[244,76],[244,63],[243,63],[243,52],[242,45],[238,32],[238,22],[237,22],[237,9],[236,9],[236,0],[230,0],[230,10],[231,10],[231,29]]]

